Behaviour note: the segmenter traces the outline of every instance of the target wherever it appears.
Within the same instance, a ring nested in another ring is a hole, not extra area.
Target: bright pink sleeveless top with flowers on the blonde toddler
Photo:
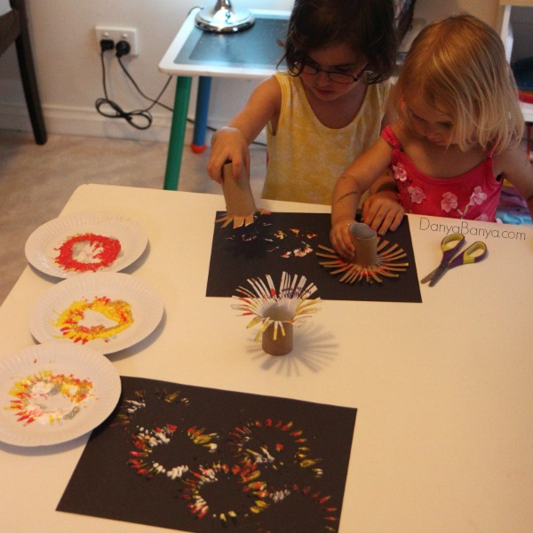
[[[394,148],[391,170],[405,211],[452,219],[496,221],[503,180],[494,177],[492,154],[471,171],[455,178],[431,178],[419,171],[402,152],[400,141],[390,126],[386,126],[381,136]]]

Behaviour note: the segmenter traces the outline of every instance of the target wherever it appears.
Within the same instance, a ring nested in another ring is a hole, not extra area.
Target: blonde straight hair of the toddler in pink
[[[524,130],[513,71],[493,28],[472,15],[438,20],[411,45],[394,102],[410,126],[402,105],[421,97],[452,119],[458,147],[500,153],[520,142]]]

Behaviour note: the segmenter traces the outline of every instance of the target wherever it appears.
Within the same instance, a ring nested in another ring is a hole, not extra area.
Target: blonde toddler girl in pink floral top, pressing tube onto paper
[[[397,122],[335,186],[330,240],[340,255],[353,254],[348,227],[359,198],[387,168],[411,213],[495,221],[508,179],[533,215],[533,165],[520,147],[518,91],[494,29],[467,14],[424,28],[410,47],[392,102]],[[394,229],[401,218],[386,217],[383,228]]]

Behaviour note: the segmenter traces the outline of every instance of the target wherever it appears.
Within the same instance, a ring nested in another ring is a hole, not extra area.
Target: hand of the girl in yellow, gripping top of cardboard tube
[[[244,168],[250,173],[250,152],[243,133],[238,128],[225,127],[213,133],[211,138],[211,155],[207,163],[207,172],[211,179],[222,183],[222,167],[233,163],[234,179],[239,179]]]

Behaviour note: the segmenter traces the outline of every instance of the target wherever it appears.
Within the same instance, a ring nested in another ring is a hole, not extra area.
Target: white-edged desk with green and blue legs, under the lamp
[[[255,24],[232,34],[214,34],[195,27],[192,10],[159,63],[162,72],[178,76],[164,188],[176,190],[183,153],[192,76],[199,76],[193,149],[202,151],[211,91],[211,77],[261,80],[274,74],[283,49],[289,12],[251,10]]]

